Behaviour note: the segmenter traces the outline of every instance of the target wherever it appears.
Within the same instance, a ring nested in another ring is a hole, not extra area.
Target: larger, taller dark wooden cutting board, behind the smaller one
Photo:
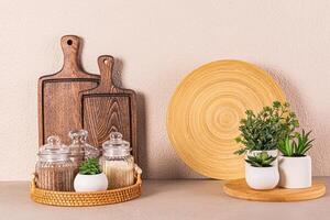
[[[50,135],[58,135],[68,144],[68,132],[81,129],[79,92],[95,88],[99,75],[85,73],[79,62],[80,38],[66,35],[61,38],[64,53],[63,68],[38,79],[38,141],[43,145]]]

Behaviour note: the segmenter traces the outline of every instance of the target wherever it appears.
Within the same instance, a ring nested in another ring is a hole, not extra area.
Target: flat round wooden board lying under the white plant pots
[[[235,179],[227,182],[223,191],[234,198],[254,201],[302,201],[323,196],[326,186],[322,183],[312,182],[311,187],[304,189],[254,190],[246,185],[245,179]]]

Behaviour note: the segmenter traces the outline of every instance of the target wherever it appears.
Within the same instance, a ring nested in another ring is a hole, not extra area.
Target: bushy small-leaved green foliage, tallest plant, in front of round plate
[[[235,154],[248,151],[276,150],[280,140],[293,136],[299,121],[295,112],[290,111],[289,103],[274,101],[272,107],[264,107],[258,113],[246,110],[246,118],[241,120],[241,135],[235,139],[244,146]]]

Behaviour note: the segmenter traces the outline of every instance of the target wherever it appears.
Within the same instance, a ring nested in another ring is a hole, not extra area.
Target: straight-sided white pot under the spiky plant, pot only
[[[311,187],[310,156],[278,156],[278,167],[280,187],[293,189]]]

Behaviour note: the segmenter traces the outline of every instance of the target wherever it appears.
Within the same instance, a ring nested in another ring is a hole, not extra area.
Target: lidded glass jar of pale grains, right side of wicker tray
[[[102,172],[108,177],[109,189],[122,188],[134,184],[134,158],[130,143],[122,134],[111,132],[110,140],[102,144]]]

